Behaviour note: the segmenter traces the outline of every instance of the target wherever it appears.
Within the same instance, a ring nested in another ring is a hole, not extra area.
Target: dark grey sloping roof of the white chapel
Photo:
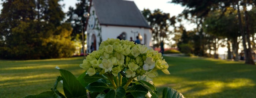
[[[133,1],[92,0],[101,25],[151,28]]]

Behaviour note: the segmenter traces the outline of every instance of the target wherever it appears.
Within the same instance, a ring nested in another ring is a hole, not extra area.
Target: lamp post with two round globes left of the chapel
[[[82,21],[82,18],[81,18],[81,17],[78,17],[77,14],[73,14],[72,18],[73,18],[73,19],[80,19],[80,23],[81,23],[81,25],[82,25],[82,30],[81,30],[81,33],[82,33],[82,45],[83,45],[83,46],[82,46],[82,49],[83,49],[83,54],[84,54],[84,57],[85,57],[85,54],[86,54],[86,53],[85,53],[84,29],[86,30],[86,28],[84,28],[84,27],[87,26],[87,20],[88,20],[90,14],[85,11],[84,14],[83,14],[83,16],[84,16],[84,18],[86,18],[86,24],[85,24],[85,26],[84,26],[84,22]]]

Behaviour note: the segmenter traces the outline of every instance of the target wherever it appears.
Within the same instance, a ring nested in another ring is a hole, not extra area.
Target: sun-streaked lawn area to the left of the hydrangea
[[[51,91],[60,73],[56,66],[79,76],[84,57],[47,60],[0,60],[0,98],[22,98]],[[63,93],[62,84],[58,85]],[[64,93],[63,93],[64,94]]]

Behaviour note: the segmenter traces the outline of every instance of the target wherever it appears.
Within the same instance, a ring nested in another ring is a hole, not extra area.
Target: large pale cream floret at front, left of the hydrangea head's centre
[[[105,70],[106,72],[110,72],[112,70],[113,64],[111,63],[110,60],[103,59],[101,61],[101,64],[99,64],[99,67]]]

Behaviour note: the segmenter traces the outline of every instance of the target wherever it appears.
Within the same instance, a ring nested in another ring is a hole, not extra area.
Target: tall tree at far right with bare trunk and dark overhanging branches
[[[188,16],[187,14],[190,14],[192,17],[197,16],[197,18],[200,18],[201,20],[205,18],[206,15],[208,15],[208,12],[211,10],[218,10],[220,9],[222,11],[222,15],[224,12],[226,12],[227,7],[235,7],[238,10],[238,20],[239,20],[239,28],[240,33],[242,35],[243,39],[243,46],[245,50],[245,56],[246,56],[246,64],[255,64],[252,60],[252,54],[251,54],[251,42],[250,39],[250,31],[248,29],[248,15],[246,10],[246,5],[248,4],[255,4],[255,1],[253,0],[172,0],[171,3],[178,3],[181,5],[186,5],[186,9],[183,11],[183,13]],[[242,27],[242,21],[241,21],[241,14],[240,14],[240,4],[242,3],[242,7],[244,10],[245,15],[245,29]],[[201,22],[200,22],[201,23]],[[245,31],[246,30],[246,35]],[[246,42],[247,39],[247,42]],[[246,43],[248,45],[248,48],[246,48]],[[249,52],[248,52],[249,51]]]

